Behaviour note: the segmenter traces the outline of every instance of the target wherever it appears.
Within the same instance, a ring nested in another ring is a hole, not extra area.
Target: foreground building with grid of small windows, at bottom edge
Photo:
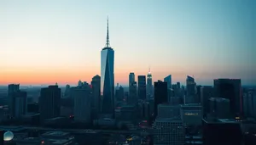
[[[157,118],[154,122],[154,145],[183,145],[185,128],[180,119]]]

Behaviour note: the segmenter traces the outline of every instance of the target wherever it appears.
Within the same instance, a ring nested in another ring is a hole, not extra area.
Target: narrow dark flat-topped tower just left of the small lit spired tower
[[[146,99],[146,76],[138,75],[137,76],[137,96],[139,99]]]

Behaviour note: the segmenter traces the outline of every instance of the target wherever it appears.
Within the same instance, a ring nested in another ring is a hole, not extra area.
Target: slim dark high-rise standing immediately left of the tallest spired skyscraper
[[[101,112],[101,76],[95,75],[91,81],[92,86],[92,115],[93,119],[98,117],[98,114]]]

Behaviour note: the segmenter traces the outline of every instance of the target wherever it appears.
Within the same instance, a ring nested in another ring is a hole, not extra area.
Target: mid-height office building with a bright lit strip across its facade
[[[184,125],[201,125],[201,105],[197,103],[180,105],[180,114]]]

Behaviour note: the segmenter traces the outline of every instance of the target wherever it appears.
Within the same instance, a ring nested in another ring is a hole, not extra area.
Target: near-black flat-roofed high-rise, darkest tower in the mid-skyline
[[[167,82],[154,82],[154,119],[157,117],[157,106],[160,103],[168,103]]]

